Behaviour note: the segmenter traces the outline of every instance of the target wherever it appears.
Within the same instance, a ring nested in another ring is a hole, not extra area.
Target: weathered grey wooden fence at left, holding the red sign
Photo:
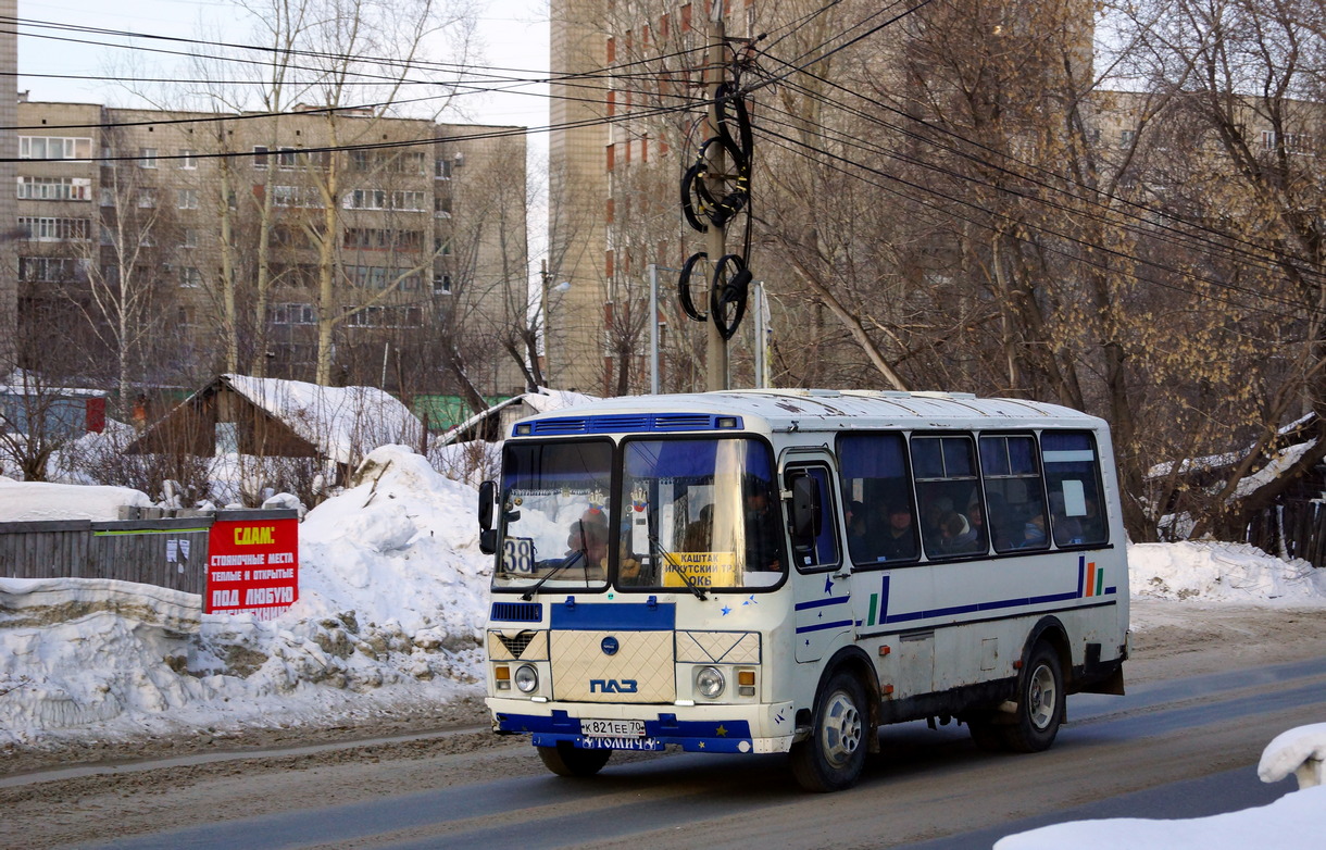
[[[118,522],[0,522],[0,576],[115,578],[203,594],[207,542],[215,520],[294,516],[294,511],[219,511],[211,516]]]

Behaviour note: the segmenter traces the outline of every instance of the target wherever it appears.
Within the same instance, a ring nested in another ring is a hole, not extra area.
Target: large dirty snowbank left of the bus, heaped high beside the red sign
[[[308,515],[300,601],[271,622],[151,585],[0,579],[0,745],[354,723],[476,695],[477,495],[399,446],[359,480]]]

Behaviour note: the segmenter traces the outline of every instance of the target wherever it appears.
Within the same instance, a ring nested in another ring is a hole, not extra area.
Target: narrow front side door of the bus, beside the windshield
[[[835,643],[843,631],[853,630],[851,574],[842,557],[838,533],[838,496],[834,475],[827,457],[797,460],[784,471],[784,487],[796,493],[797,479],[808,479],[812,487],[801,485],[801,492],[812,492],[814,524],[798,536],[796,505],[789,511],[789,558],[792,561],[793,598],[796,602],[796,658],[814,662]],[[796,499],[796,496],[794,496]],[[805,511],[805,505],[802,505]]]

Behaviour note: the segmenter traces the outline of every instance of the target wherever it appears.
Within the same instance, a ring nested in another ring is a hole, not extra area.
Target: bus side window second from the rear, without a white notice
[[[1048,549],[1045,492],[1036,438],[1024,434],[981,436],[981,479],[994,552]]]

